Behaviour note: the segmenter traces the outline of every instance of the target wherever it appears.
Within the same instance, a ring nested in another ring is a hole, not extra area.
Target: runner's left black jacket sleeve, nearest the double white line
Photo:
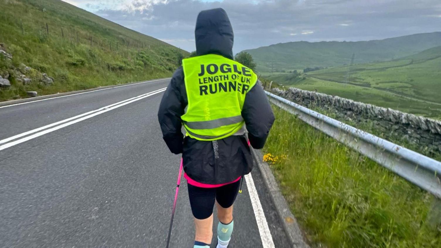
[[[182,67],[173,74],[167,90],[162,96],[158,110],[158,120],[161,126],[162,138],[168,149],[174,154],[182,153],[183,134],[181,132],[184,109],[187,106],[184,74]]]

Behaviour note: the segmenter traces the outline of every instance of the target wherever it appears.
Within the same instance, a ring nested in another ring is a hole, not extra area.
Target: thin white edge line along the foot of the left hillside
[[[138,81],[138,82],[100,86],[100,87],[90,88],[90,89],[86,89],[86,90],[75,90],[75,91],[68,91],[68,92],[62,92],[62,93],[56,93],[56,94],[50,94],[50,95],[42,95],[42,96],[37,96],[37,97],[22,98],[22,99],[17,99],[17,100],[0,101],[0,107],[15,105],[15,104],[19,104],[19,103],[25,103],[25,102],[29,102],[29,101],[39,101],[39,100],[44,100],[44,99],[48,99],[48,98],[56,98],[56,97],[73,95],[73,94],[86,93],[86,92],[94,91],[94,90],[105,90],[108,88],[114,88],[114,87],[119,87],[119,86],[128,86],[131,84],[137,84],[137,83],[143,83],[143,82],[149,83],[150,81],[154,81],[154,80],[159,81],[159,80],[165,80],[165,79],[171,79],[171,78],[149,79],[149,80],[142,80],[142,81]]]

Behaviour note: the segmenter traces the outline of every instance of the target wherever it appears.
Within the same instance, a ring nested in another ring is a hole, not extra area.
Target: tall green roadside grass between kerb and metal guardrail
[[[312,246],[440,246],[441,229],[431,224],[432,195],[295,116],[273,110],[266,159],[276,160],[270,167]]]

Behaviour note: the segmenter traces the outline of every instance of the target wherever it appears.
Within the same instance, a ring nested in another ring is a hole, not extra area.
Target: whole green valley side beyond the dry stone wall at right
[[[267,78],[285,86],[441,119],[441,46],[400,60]]]

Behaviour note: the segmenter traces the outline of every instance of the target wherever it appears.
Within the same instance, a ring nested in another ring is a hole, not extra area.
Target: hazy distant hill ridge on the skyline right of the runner
[[[296,41],[245,50],[262,72],[302,70],[350,64],[354,53],[356,64],[388,61],[410,56],[441,45],[441,32],[412,34],[373,41]],[[274,66],[272,66],[274,62]]]

